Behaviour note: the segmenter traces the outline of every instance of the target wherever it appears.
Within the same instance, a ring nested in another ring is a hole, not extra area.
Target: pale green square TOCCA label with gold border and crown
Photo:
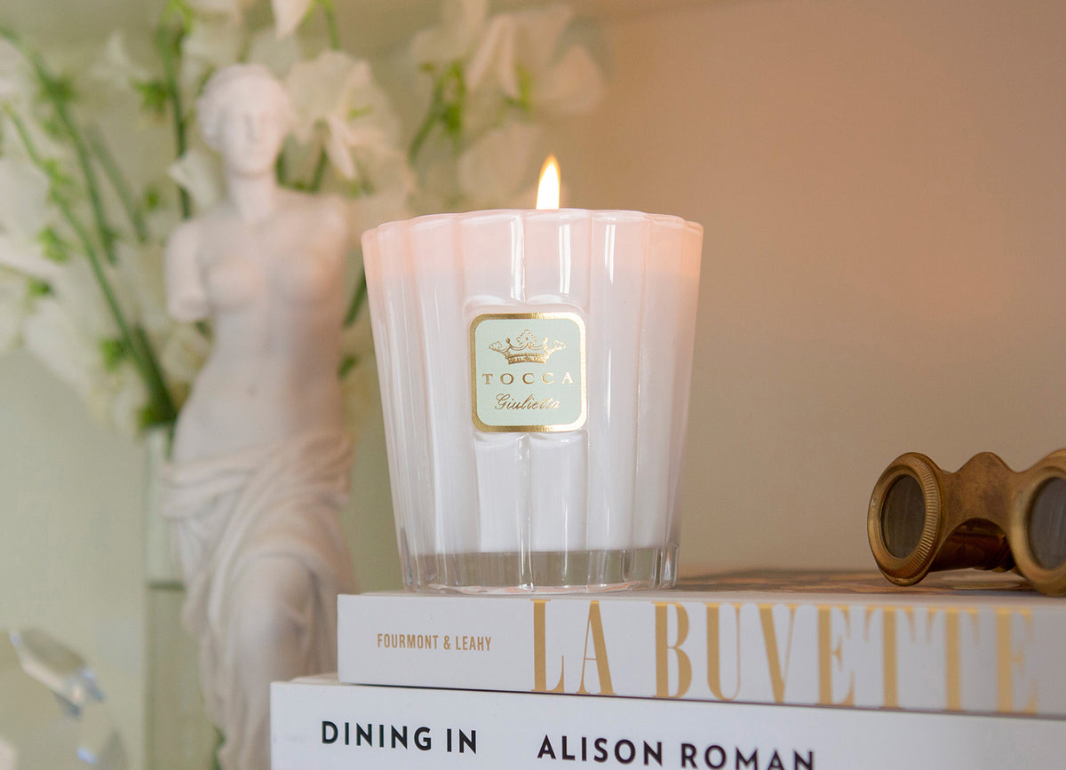
[[[470,398],[482,431],[572,431],[585,423],[585,324],[572,312],[478,316]]]

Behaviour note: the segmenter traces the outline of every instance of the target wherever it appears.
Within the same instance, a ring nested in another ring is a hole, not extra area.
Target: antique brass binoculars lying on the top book
[[[867,517],[882,573],[912,585],[940,570],[1014,570],[1045,594],[1066,594],[1066,449],[1015,472],[983,452],[954,474],[924,454],[882,474]]]

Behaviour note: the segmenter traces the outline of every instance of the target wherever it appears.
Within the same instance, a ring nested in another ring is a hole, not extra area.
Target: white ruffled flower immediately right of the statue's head
[[[397,151],[395,118],[367,62],[324,51],[296,64],[285,86],[296,139],[307,143],[319,135],[329,162],[345,179],[357,175],[353,150],[371,156]]]

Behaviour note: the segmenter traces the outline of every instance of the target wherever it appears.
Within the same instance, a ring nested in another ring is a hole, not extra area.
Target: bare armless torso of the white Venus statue
[[[220,206],[187,224],[212,349],[181,412],[175,459],[203,459],[341,421],[346,248],[339,204],[281,193],[260,222]]]

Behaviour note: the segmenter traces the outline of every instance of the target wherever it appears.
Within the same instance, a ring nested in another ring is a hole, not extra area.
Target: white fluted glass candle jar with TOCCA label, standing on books
[[[579,209],[364,234],[408,589],[674,583],[701,241]]]

